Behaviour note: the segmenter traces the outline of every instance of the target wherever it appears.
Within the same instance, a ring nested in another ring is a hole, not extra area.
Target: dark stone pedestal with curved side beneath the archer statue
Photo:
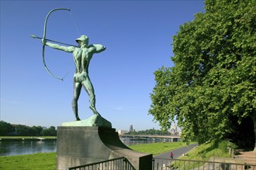
[[[57,127],[57,169],[120,157],[136,169],[152,168],[152,155],[126,147],[113,128]]]

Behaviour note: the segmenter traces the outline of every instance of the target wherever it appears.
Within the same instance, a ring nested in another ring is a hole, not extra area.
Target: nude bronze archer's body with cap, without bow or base
[[[47,42],[46,39],[42,39],[43,46],[50,46],[53,49],[59,49],[73,54],[76,70],[73,77],[74,95],[72,100],[72,108],[76,121],[81,121],[78,116],[78,98],[80,96],[82,87],[84,87],[85,91],[88,93],[90,101],[89,108],[92,110],[93,114],[100,116],[95,107],[95,92],[88,75],[88,66],[93,54],[101,53],[106,49],[106,47],[100,44],[88,45],[88,37],[84,35],[80,36],[78,39],[75,39],[75,41],[78,42],[78,46],[60,46],[55,43]]]

